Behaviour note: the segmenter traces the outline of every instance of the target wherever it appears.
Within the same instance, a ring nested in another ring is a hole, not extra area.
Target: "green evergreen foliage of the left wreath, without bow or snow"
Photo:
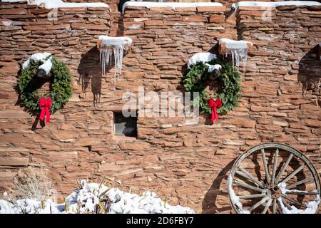
[[[42,95],[39,94],[39,86],[41,86],[41,81],[44,81],[43,78],[36,76],[39,66],[43,64],[43,61],[34,61],[30,60],[30,63],[26,68],[21,70],[21,74],[18,81],[18,86],[20,90],[20,101],[23,103],[26,108],[31,111],[41,111],[39,106],[39,99],[51,98],[52,107],[50,113],[55,113],[56,110],[62,108],[65,105],[72,94],[71,86],[71,73],[69,72],[66,64],[62,61],[58,61],[54,56],[51,58],[51,84],[50,92]],[[46,60],[48,59],[46,58]]]

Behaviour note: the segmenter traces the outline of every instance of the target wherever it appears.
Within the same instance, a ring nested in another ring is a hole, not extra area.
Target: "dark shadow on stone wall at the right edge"
[[[321,89],[320,49],[319,45],[315,46],[300,60],[297,80],[302,83],[303,94],[318,93]]]

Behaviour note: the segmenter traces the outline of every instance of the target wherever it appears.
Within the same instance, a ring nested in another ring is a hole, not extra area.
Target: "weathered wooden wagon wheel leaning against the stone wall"
[[[265,143],[235,161],[228,193],[238,214],[313,214],[320,204],[320,179],[310,160],[298,150]]]

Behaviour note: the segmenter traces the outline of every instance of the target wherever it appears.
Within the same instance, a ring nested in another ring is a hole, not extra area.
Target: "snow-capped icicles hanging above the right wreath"
[[[240,66],[240,62],[243,63],[243,72],[245,72],[245,66],[248,61],[248,48],[253,44],[248,41],[233,41],[228,38],[221,38],[218,42],[219,45],[225,46],[225,56],[230,54],[232,56],[233,66]]]

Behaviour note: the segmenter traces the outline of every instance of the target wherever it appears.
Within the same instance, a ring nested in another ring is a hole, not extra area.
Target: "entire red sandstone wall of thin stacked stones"
[[[253,145],[285,142],[305,152],[320,171],[320,88],[310,83],[320,78],[320,64],[309,53],[320,39],[320,9],[279,8],[274,23],[261,20],[263,11],[240,9],[236,30],[223,8],[128,8],[120,28],[133,46],[115,89],[113,69],[101,78],[95,47],[99,34],[110,33],[108,11],[61,9],[59,21],[49,22],[46,10],[35,6],[0,7],[1,21],[15,22],[0,28],[1,187],[10,186],[19,168],[33,165],[49,170],[64,195],[75,180],[106,176],[113,186],[153,190],[198,212],[230,212],[226,175],[235,157]],[[184,125],[181,118],[138,115],[137,139],[113,136],[113,110],[121,108],[124,91],[180,91],[182,69],[193,53],[237,35],[255,44],[238,108],[215,125],[205,125],[204,118]],[[74,95],[50,124],[31,130],[35,117],[16,105],[14,86],[20,64],[38,51],[66,61]],[[301,61],[308,67],[300,68]],[[100,101],[96,107],[93,100]]]

